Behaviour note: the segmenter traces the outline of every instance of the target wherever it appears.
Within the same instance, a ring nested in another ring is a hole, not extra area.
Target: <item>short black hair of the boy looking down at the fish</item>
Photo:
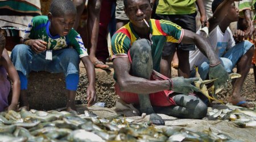
[[[65,14],[76,14],[76,7],[71,0],[53,0],[49,12],[52,16],[61,16]]]

